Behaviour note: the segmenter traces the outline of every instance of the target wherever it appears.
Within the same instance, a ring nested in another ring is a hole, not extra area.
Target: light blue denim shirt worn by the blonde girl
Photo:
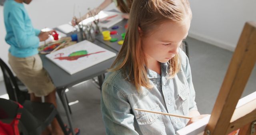
[[[153,86],[135,86],[121,70],[109,72],[102,85],[101,111],[107,135],[174,135],[188,119],[148,113],[134,108],[188,115],[197,110],[188,58],[180,51],[181,69],[170,78],[168,63],[161,63],[161,75],[148,69]]]

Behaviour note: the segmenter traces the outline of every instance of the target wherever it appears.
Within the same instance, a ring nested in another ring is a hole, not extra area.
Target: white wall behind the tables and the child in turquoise
[[[32,0],[29,5],[24,5],[34,28],[42,29],[44,27],[54,28],[68,23],[74,14],[74,4],[76,5],[75,15],[79,16],[79,10],[83,15],[89,7],[95,8],[101,2],[103,0]],[[115,8],[114,4],[108,6],[106,10],[112,8]],[[4,40],[5,35],[3,6],[0,6],[0,58],[8,63],[9,45]],[[3,80],[2,71],[0,71],[1,80]]]

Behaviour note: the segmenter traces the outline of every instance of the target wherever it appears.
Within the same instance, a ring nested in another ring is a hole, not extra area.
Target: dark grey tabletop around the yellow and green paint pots
[[[121,22],[118,22],[117,24],[115,24],[114,26],[118,26],[119,28],[116,29],[117,34],[110,35],[111,38],[117,38],[118,39],[117,42],[122,40],[121,34],[126,32],[124,26],[127,24],[127,22],[128,21],[126,19],[124,19]],[[112,27],[110,27],[109,29],[103,29],[103,31],[104,30],[112,31],[112,29],[111,29]],[[119,52],[121,50],[121,48],[122,48],[122,45],[119,45],[117,42],[110,42],[110,41],[103,40],[102,34],[99,34],[98,36],[96,36],[96,40],[106,44],[107,46],[111,47],[112,49],[116,50],[117,52]]]

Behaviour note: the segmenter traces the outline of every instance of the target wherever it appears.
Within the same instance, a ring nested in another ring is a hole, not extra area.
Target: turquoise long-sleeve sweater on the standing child
[[[9,52],[18,58],[38,54],[40,30],[34,29],[22,3],[6,0],[4,3],[5,41]]]

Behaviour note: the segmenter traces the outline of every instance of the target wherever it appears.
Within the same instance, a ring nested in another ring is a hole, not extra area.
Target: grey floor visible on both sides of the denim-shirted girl
[[[189,44],[198,110],[202,114],[210,114],[232,58],[232,52],[192,38],[186,40]],[[2,82],[0,82],[0,89],[2,89],[0,95],[5,93]],[[256,67],[242,97],[254,91],[256,91]],[[105,129],[100,113],[100,90],[92,83],[92,80],[69,88],[67,95],[70,102],[79,101],[71,105],[71,109],[74,127],[80,128],[80,135],[104,135]],[[58,105],[60,115],[67,123],[64,109],[60,103]]]

